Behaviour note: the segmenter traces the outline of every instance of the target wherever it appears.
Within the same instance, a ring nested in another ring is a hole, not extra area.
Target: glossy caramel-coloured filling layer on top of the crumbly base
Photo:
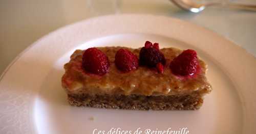
[[[130,72],[122,72],[115,66],[115,53],[126,47],[98,47],[110,60],[109,72],[99,76],[82,69],[83,50],[76,50],[69,63],[65,64],[65,74],[62,77],[62,87],[68,94],[124,94],[124,95],[175,95],[197,92],[209,93],[211,87],[205,77],[206,64],[198,59],[196,74],[188,77],[176,76],[169,68],[170,62],[182,51],[177,48],[163,48],[166,64],[163,74],[155,68],[139,66]],[[138,49],[131,49],[139,57]]]

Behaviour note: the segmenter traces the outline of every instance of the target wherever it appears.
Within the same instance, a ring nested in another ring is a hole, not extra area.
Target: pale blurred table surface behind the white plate
[[[255,0],[241,2],[256,4]],[[61,26],[123,13],[189,21],[224,36],[256,56],[256,12],[211,7],[201,13],[189,13],[168,0],[3,0],[0,2],[0,74],[30,44]]]

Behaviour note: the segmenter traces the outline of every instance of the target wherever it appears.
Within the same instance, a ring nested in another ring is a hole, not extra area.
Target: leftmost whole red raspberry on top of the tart
[[[82,67],[90,73],[103,75],[109,71],[110,62],[101,50],[88,48],[82,56]]]

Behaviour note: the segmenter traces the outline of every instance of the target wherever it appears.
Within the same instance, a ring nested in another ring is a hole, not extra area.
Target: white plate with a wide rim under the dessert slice
[[[75,49],[137,48],[146,40],[198,51],[214,89],[200,110],[105,110],[68,104],[60,79]],[[131,133],[183,127],[189,133],[256,133],[255,61],[223,37],[174,18],[120,15],[81,21],[41,38],[6,69],[0,81],[0,133],[93,133],[95,128],[95,133],[107,133],[112,127]]]

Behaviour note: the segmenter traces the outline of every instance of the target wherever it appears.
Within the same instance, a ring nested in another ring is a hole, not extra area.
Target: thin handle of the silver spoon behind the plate
[[[209,3],[206,6],[223,6],[233,9],[247,10],[247,11],[256,11],[256,5],[248,4],[237,4],[237,3]]]

